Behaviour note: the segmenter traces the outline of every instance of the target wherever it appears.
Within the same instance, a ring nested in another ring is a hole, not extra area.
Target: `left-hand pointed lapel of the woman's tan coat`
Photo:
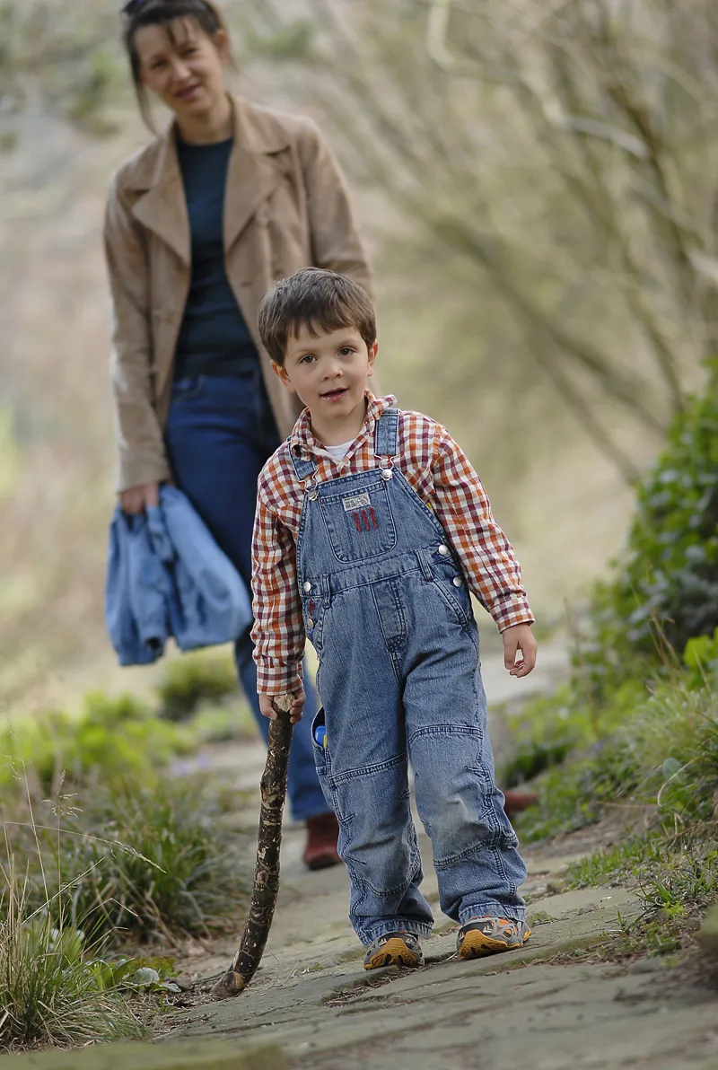
[[[162,137],[156,168],[148,184],[149,189],[135,202],[133,214],[188,266],[192,259],[189,217],[173,127]]]

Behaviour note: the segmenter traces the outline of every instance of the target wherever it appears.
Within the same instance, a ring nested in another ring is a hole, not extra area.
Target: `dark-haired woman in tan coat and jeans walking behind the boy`
[[[259,342],[256,314],[277,278],[310,264],[369,287],[343,179],[317,128],[230,96],[229,37],[209,0],[133,0],[124,43],[140,111],[148,93],[170,127],[112,183],[105,249],[112,293],[112,384],[120,504],[141,513],[173,479],[247,585],[257,477],[296,418]],[[260,716],[249,633],[242,686]],[[309,728],[294,730],[292,815],[310,869],[339,860]]]

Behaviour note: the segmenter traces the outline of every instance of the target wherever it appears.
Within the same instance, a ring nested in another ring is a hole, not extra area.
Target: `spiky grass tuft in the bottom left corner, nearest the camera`
[[[49,913],[31,918],[15,900],[0,921],[0,1051],[144,1036],[120,995],[121,973],[95,958],[81,932],[56,928]]]

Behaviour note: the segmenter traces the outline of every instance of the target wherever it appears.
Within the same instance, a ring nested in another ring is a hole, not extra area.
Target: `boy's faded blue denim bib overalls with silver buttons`
[[[493,780],[478,632],[446,534],[392,465],[399,411],[377,422],[377,468],[326,483],[294,455],[305,498],[296,539],[308,638],[319,655],[326,748],[319,779],[340,824],[350,920],[364,944],[427,936],[416,806],[433,847],[442,911],[462,924],[520,920],[526,875]]]

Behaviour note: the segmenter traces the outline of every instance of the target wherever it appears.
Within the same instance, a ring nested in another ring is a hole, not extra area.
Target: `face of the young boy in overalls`
[[[377,342],[369,349],[354,327],[340,327],[315,337],[302,326],[287,342],[284,368],[274,370],[292,394],[299,394],[318,426],[340,426],[360,411],[373,374]]]

